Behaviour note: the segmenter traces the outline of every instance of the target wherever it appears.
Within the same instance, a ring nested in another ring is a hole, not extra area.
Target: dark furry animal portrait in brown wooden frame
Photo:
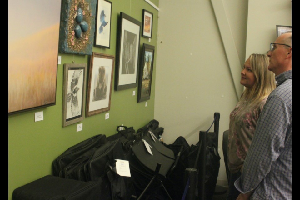
[[[93,52],[88,78],[86,116],[110,110],[115,57]]]

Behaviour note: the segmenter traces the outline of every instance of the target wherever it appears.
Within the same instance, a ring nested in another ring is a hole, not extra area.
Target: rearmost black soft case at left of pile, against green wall
[[[95,135],[91,138],[88,138],[63,152],[58,158],[53,161],[53,175],[63,177],[61,171],[75,160],[78,156],[87,152],[88,150],[98,147],[106,143],[105,135]]]

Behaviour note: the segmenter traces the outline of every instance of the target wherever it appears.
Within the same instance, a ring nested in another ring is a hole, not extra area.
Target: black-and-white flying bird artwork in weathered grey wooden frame
[[[83,120],[87,64],[64,64],[63,127]]]

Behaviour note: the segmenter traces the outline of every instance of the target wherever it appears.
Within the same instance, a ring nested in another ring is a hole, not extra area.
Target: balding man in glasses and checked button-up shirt
[[[271,43],[267,56],[278,86],[263,107],[235,182],[237,200],[292,199],[292,33]]]

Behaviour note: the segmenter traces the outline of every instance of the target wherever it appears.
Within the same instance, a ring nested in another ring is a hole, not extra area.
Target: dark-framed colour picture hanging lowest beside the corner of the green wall
[[[143,43],[138,78],[138,103],[150,99],[155,47]]]

